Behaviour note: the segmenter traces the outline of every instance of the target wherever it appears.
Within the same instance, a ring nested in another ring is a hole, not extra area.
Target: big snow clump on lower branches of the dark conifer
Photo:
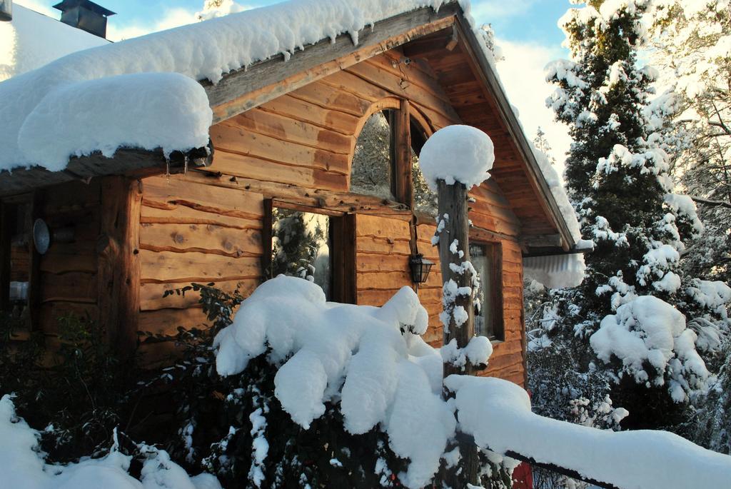
[[[696,340],[681,311],[643,295],[602,319],[589,343],[601,360],[608,363],[617,357],[624,372],[648,387],[664,385],[667,374],[671,397],[683,402],[693,390],[705,388],[710,376],[695,349]],[[654,371],[645,370],[646,365]]]

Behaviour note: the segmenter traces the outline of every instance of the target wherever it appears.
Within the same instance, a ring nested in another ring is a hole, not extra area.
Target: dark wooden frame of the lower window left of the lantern
[[[328,216],[330,219],[330,291],[332,302],[355,304],[357,287],[355,284],[355,213],[331,211],[330,209],[309,207],[284,200],[264,200],[264,221],[262,226],[262,281],[271,276],[274,209],[288,209]]]

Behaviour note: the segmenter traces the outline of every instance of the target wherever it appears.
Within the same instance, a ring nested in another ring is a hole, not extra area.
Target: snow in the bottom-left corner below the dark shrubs
[[[86,458],[66,466],[43,460],[39,433],[15,414],[12,398],[0,398],[0,474],[12,489],[221,489],[211,474],[189,477],[164,450],[141,446],[147,456],[142,481],[127,474],[132,457],[115,447],[102,458]]]

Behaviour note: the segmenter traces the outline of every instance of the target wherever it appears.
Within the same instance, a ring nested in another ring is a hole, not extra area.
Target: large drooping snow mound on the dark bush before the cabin
[[[439,469],[455,429],[434,382],[442,371],[439,353],[412,333],[425,332],[427,324],[409,287],[381,308],[352,306],[325,302],[311,281],[279,276],[244,300],[232,325],[216,336],[216,369],[238,374],[268,352],[281,365],[275,395],[292,420],[308,428],[325,403],[340,401],[346,430],[366,433],[381,425],[395,454],[411,460],[399,479],[421,488]]]

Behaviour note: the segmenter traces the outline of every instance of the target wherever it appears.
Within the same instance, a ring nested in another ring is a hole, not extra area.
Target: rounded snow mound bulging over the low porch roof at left
[[[134,100],[134,103],[129,103]],[[125,107],[120,113],[119,107]],[[50,171],[69,156],[133,146],[166,154],[208,144],[213,113],[200,83],[177,73],[136,73],[59,86],[26,118],[18,145]],[[48,137],[48,128],[53,137]]]

